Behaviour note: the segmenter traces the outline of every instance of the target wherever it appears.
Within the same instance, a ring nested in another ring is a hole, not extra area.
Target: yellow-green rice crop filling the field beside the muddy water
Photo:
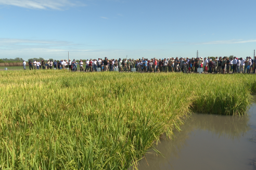
[[[127,169],[191,110],[242,115],[254,75],[0,73],[0,165]]]

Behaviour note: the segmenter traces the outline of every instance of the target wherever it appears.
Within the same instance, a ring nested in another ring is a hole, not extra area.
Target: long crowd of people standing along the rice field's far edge
[[[25,69],[26,62],[23,61]],[[198,70],[203,73],[226,74],[226,73],[255,73],[256,57],[252,59],[247,56],[243,58],[216,57],[216,58],[168,58],[168,59],[110,59],[104,60],[98,58],[91,59],[84,63],[68,60],[53,61],[29,61],[30,69],[69,69],[80,72],[99,72],[99,71],[118,71],[118,72],[183,72],[197,73]],[[199,68],[199,69],[198,69]]]

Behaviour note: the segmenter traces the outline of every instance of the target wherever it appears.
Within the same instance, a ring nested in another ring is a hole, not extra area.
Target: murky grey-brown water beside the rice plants
[[[254,96],[256,101],[256,96]],[[256,104],[243,117],[194,114],[139,161],[150,169],[256,169]]]

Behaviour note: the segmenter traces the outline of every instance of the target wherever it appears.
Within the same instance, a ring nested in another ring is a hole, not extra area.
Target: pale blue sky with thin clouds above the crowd
[[[0,0],[0,58],[253,56],[255,7],[255,0]]]

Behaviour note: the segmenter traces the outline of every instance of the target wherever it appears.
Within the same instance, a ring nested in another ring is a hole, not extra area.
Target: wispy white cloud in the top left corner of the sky
[[[70,0],[0,0],[0,5],[17,6],[30,9],[57,9],[64,7],[85,6],[78,1]]]

